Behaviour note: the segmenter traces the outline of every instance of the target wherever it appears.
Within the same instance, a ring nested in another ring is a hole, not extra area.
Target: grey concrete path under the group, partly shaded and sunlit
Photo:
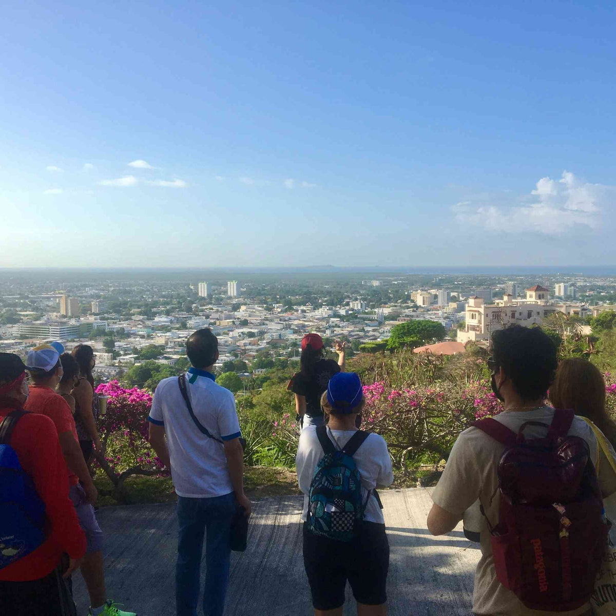
[[[248,549],[232,556],[225,616],[314,613],[302,561],[302,498],[274,496],[253,503]],[[464,538],[461,527],[446,537],[428,533],[429,488],[383,490],[381,500],[391,545],[389,614],[468,615],[477,544]],[[139,616],[173,616],[175,506],[110,507],[98,518],[106,534],[109,596]],[[78,614],[86,614],[81,575],[74,580]],[[348,587],[347,596],[345,616],[357,614]]]

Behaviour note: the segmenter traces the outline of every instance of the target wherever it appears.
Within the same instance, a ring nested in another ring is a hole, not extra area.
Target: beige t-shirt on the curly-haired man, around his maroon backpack
[[[534,411],[506,411],[495,417],[496,421],[505,424],[507,428],[518,432],[525,421],[540,421],[549,424],[552,421],[554,409],[544,407]],[[524,436],[529,439],[543,437],[547,433],[546,428],[541,426],[527,426]],[[601,447],[597,447],[597,439],[588,424],[576,417],[569,434],[580,436],[590,447],[591,460],[597,465],[597,455],[603,462],[599,464],[599,485],[604,496],[616,492],[616,473],[611,464],[605,459]],[[439,483],[432,492],[432,501],[454,515],[462,517],[479,498],[485,509],[490,523],[498,523],[498,509],[500,506],[500,494],[496,468],[498,461],[505,449],[496,440],[489,437],[479,428],[468,428],[460,434],[452,453],[445,466],[445,471],[440,477]],[[616,458],[614,449],[609,446],[612,456]],[[496,492],[492,503],[492,495]],[[555,614],[578,616],[585,614],[590,605],[580,607],[569,612],[544,612],[530,610],[510,590],[501,585],[496,578],[496,570],[492,557],[492,545],[490,544],[490,532],[485,518],[481,522],[481,559],[475,572],[475,588],[472,595],[472,610],[475,614],[488,614],[491,616],[554,616]]]

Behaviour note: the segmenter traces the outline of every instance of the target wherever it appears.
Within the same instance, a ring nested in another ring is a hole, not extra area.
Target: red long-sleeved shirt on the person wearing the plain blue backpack
[[[15,408],[20,408],[15,400],[0,398],[0,421]],[[0,569],[0,580],[39,580],[58,566],[63,553],[81,558],[86,553],[86,535],[68,498],[67,464],[51,419],[27,413],[19,419],[9,444],[45,503],[48,527],[43,545]]]

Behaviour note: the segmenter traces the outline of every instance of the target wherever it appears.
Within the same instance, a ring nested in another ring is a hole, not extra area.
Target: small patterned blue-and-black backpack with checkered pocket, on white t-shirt
[[[327,435],[326,426],[317,428],[325,456],[317,464],[308,492],[308,528],[315,535],[351,541],[359,535],[360,522],[368,505],[353,456],[370,432],[358,430],[342,449]]]

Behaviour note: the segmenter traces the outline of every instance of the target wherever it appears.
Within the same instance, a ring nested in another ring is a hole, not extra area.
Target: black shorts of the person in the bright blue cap
[[[304,522],[304,567],[317,610],[344,605],[347,580],[355,601],[367,606],[383,604],[389,570],[385,525],[362,522],[359,537],[345,542],[315,535]]]

